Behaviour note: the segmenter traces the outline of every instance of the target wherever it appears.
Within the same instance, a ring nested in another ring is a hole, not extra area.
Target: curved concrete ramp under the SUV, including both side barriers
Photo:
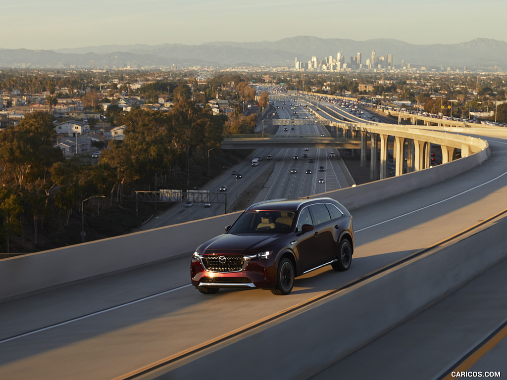
[[[318,373],[504,257],[505,220],[491,219],[505,208],[502,135],[488,138],[489,159],[485,146],[446,165],[326,194],[352,211],[352,268],[298,278],[287,297],[262,290],[208,297],[188,285],[187,253],[234,214],[5,260],[0,377]],[[480,249],[484,241],[488,250]]]

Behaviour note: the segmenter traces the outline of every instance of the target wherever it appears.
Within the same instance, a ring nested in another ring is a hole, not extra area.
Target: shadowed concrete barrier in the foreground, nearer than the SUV
[[[222,378],[310,378],[507,257],[506,229],[503,217],[156,378],[191,378],[216,363],[227,363],[220,366]],[[260,358],[256,365],[254,357]]]

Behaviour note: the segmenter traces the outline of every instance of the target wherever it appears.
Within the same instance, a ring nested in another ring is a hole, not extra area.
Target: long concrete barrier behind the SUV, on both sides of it
[[[441,181],[479,165],[489,149],[438,167],[324,193],[348,209]],[[239,213],[0,260],[0,299],[136,267],[193,250]]]

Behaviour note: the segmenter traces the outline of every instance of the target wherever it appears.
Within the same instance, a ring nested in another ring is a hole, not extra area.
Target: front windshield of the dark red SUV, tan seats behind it
[[[291,231],[294,211],[268,210],[243,213],[228,231],[230,234],[286,234]]]

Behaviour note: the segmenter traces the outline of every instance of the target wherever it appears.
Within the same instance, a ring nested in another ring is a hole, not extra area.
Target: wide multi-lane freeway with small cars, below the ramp
[[[330,136],[323,126],[318,126],[313,122],[312,114],[303,107],[304,103],[297,103],[293,100],[285,101],[286,104],[276,100],[271,102],[273,106],[278,107],[275,109],[280,119],[295,119],[295,115],[298,115],[298,120],[308,122],[303,125],[288,126],[286,130],[280,126],[274,131],[280,139],[301,134]],[[262,135],[262,128],[262,124],[259,123],[257,128],[259,136]],[[334,156],[331,157],[331,154]],[[271,156],[271,160],[267,159],[268,155]],[[251,159],[255,157],[263,158],[259,166],[251,166]],[[241,174],[241,178],[236,178],[236,175],[233,174],[236,172]],[[230,212],[241,209],[235,205],[242,204],[238,203],[238,200],[241,201],[245,194],[251,191],[252,185],[259,184],[261,188],[259,189],[260,193],[252,199],[251,203],[265,199],[306,197],[349,187],[354,183],[337,149],[260,148],[253,151],[244,162],[225,168],[223,175],[211,180],[202,190],[216,193],[219,192],[221,186],[227,186],[225,192],[227,211]],[[246,206],[243,205],[244,207]],[[223,203],[212,203],[209,208],[204,208],[203,203],[195,202],[191,207],[185,207],[185,204],[176,204],[170,207],[167,212],[146,223],[142,229],[216,216],[225,211],[226,205]]]

